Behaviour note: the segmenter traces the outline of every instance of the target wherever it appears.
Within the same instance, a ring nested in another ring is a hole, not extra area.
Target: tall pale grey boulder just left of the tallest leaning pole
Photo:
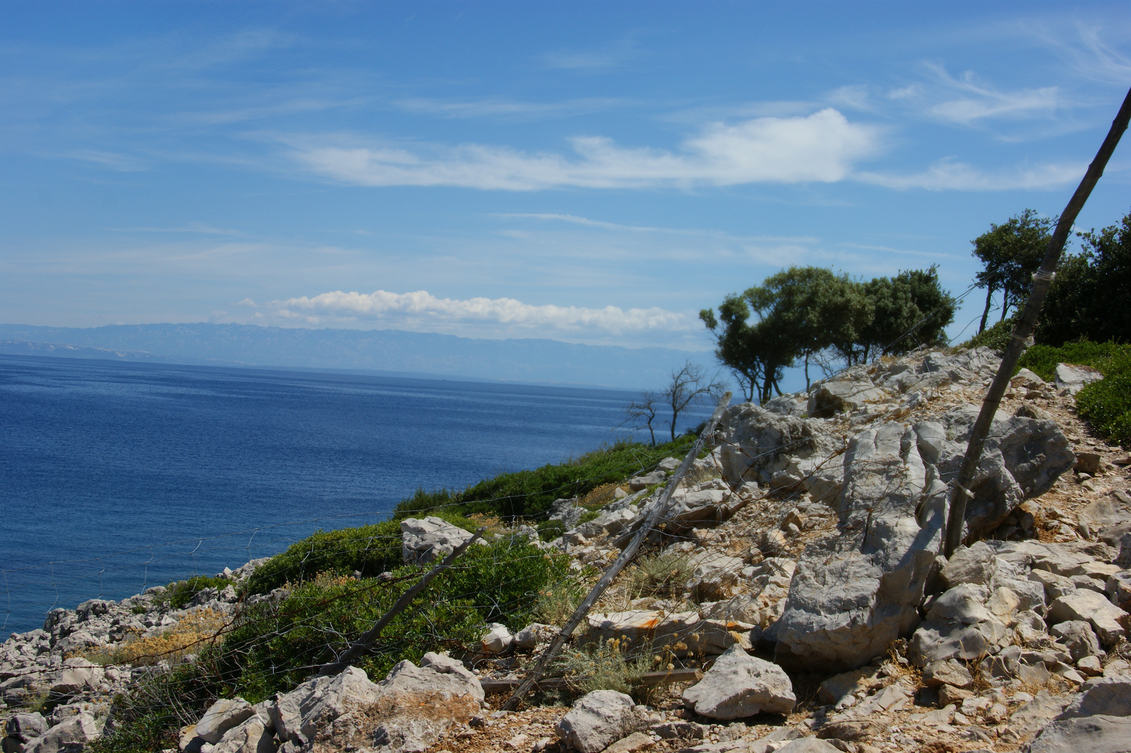
[[[777,623],[777,660],[853,668],[918,624],[941,541],[947,487],[915,430],[873,427],[849,444],[838,499],[841,534],[806,547]]]

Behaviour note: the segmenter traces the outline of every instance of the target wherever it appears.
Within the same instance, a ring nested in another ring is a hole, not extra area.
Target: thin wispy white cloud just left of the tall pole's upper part
[[[929,190],[1003,191],[1059,188],[1078,181],[1086,164],[1046,163],[987,172],[952,159],[939,160],[923,172],[895,176],[861,172],[857,180],[884,188],[926,188]]]

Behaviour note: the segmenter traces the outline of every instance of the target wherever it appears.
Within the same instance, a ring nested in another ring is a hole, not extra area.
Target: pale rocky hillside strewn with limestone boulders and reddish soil
[[[1131,457],[1073,412],[1096,374],[1013,378],[970,485],[966,546],[940,555],[949,485],[996,368],[985,349],[921,352],[729,408],[644,556],[517,712],[493,709],[554,625],[492,624],[478,645],[383,678],[349,668],[258,704],[219,699],[180,748],[1131,751]],[[509,533],[592,577],[677,464],[604,489],[585,523],[580,500],[558,500],[567,531],[554,541]],[[402,530],[406,562],[470,536],[439,517]],[[113,729],[113,693],[169,669],[120,652],[103,666],[98,651],[175,644],[244,608],[234,588],[180,608],[152,589],[12,635],[0,648],[5,752],[80,750]],[[171,657],[191,661],[182,648]]]

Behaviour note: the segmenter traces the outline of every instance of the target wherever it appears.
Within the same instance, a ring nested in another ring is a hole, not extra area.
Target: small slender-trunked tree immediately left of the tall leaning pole
[[[1028,294],[1033,273],[1041,266],[1048,246],[1054,221],[1037,215],[1033,209],[1025,209],[1004,224],[991,223],[988,232],[970,241],[974,243],[974,256],[984,266],[977,274],[977,285],[986,289],[986,306],[982,311],[978,334],[986,328],[994,292],[1002,291],[1001,319]]]

